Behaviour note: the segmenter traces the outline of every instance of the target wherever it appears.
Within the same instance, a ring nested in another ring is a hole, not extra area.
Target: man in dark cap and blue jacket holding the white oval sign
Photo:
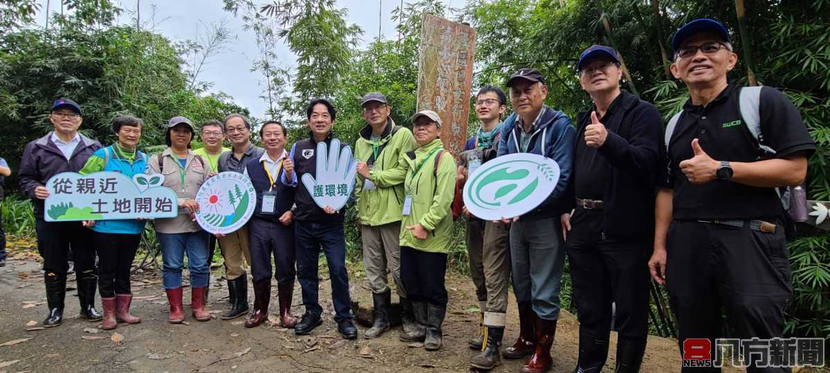
[[[536,69],[520,69],[507,80],[515,113],[501,129],[498,156],[534,153],[559,164],[559,182],[539,206],[522,216],[505,216],[510,225],[510,261],[513,289],[519,305],[519,340],[504,356],[533,354],[525,372],[550,369],[550,346],[559,320],[559,285],[564,266],[559,216],[571,205],[566,201],[571,179],[576,134],[564,113],[544,104],[548,87]],[[553,229],[552,229],[553,228]],[[489,343],[489,342],[488,342]]]

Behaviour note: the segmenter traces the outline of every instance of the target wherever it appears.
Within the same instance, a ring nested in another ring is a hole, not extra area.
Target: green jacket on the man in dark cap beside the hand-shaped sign
[[[378,151],[369,179],[374,182],[374,190],[364,190],[364,178],[357,176],[354,197],[357,199],[360,224],[384,225],[401,220],[403,208],[403,178],[406,169],[398,167],[402,154],[411,152],[416,146],[413,133],[408,128],[399,127],[393,134],[395,123],[390,118],[380,135],[378,142],[372,141],[372,127],[367,125],[360,130],[360,137],[354,144],[354,157],[360,162],[368,162]],[[385,144],[385,146],[383,146]],[[379,148],[383,147],[383,150]]]

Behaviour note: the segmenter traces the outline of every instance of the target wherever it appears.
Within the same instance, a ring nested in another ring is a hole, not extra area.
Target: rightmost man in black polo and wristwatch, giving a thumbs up
[[[723,311],[730,337],[782,337],[792,288],[789,216],[776,187],[803,182],[813,139],[779,90],[729,83],[738,56],[720,22],[687,23],[671,47],[671,73],[686,83],[689,100],[666,128],[652,278],[668,288],[681,351],[706,347],[689,338],[714,347],[715,338],[725,337]],[[761,371],[759,356],[745,356],[748,371]]]

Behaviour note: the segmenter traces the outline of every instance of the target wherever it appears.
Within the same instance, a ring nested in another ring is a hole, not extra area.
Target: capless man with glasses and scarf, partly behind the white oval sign
[[[501,130],[501,115],[507,110],[507,96],[498,87],[487,85],[476,94],[476,118],[481,126],[466,140],[458,167],[459,190],[466,177],[482,163],[496,156]],[[500,346],[507,316],[507,288],[510,281],[509,224],[499,224],[471,216],[466,207],[466,247],[470,277],[476,285],[479,332],[467,341],[479,350],[470,364],[477,370],[490,370],[501,362]],[[486,336],[486,340],[485,340]]]

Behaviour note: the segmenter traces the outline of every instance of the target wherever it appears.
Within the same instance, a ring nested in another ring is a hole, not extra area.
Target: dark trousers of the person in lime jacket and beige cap
[[[446,306],[445,274],[447,254],[401,246],[401,280],[410,299]]]

